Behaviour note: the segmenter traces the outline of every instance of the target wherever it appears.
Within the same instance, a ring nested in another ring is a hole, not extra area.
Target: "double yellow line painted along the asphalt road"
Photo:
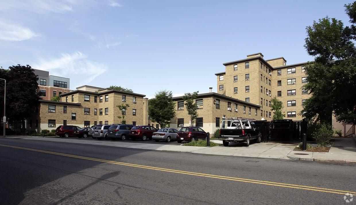
[[[65,156],[65,157],[74,157],[74,158],[79,158],[79,159],[87,159],[87,160],[93,160],[93,161],[97,161],[97,162],[104,162],[104,163],[111,163],[111,164],[118,164],[118,165],[125,165],[125,166],[133,166],[133,167],[143,168],[143,169],[167,171],[167,172],[178,173],[178,174],[204,176],[204,177],[216,178],[216,179],[242,181],[242,182],[255,183],[255,184],[264,184],[264,185],[271,185],[271,186],[282,186],[282,187],[288,187],[288,188],[294,188],[294,189],[305,189],[305,190],[321,191],[321,192],[328,192],[328,193],[335,193],[335,194],[347,194],[347,193],[356,194],[356,192],[353,192],[353,191],[342,191],[342,190],[335,190],[335,189],[318,188],[318,187],[313,187],[313,186],[285,184],[285,183],[277,183],[277,182],[271,182],[271,181],[260,181],[260,180],[243,179],[243,178],[236,178],[236,177],[229,177],[229,176],[219,176],[219,175],[212,175],[212,174],[195,173],[195,172],[181,171],[181,170],[174,170],[174,169],[164,169],[164,168],[159,168],[159,167],[154,167],[154,166],[145,166],[145,165],[138,165],[138,164],[115,162],[115,161],[109,161],[109,160],[104,160],[104,159],[81,157],[81,156],[71,155],[71,154],[49,152],[49,151],[44,151],[44,150],[30,149],[30,148],[24,148],[24,147],[15,147],[15,146],[3,145],[3,144],[0,144],[0,146],[11,147],[11,148],[16,148],[16,149],[25,149],[25,150],[35,151],[35,152],[43,152],[43,153],[48,153],[48,154],[56,154],[56,155],[61,155],[61,156]]]

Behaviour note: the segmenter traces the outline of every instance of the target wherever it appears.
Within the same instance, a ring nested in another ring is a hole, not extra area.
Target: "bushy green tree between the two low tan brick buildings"
[[[148,115],[152,122],[157,122],[161,128],[171,123],[176,115],[175,103],[172,100],[172,91],[156,92],[155,97],[148,101]]]

